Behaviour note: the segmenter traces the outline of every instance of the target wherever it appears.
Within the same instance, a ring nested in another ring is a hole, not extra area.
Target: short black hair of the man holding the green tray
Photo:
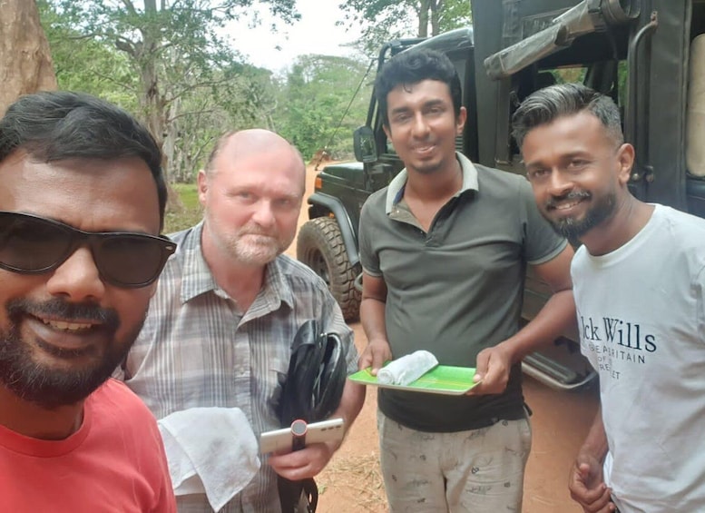
[[[397,85],[418,84],[423,80],[437,80],[448,85],[453,99],[455,117],[463,106],[463,89],[455,66],[446,54],[426,48],[410,48],[395,55],[382,65],[375,80],[375,95],[382,123],[389,126],[387,95]]]

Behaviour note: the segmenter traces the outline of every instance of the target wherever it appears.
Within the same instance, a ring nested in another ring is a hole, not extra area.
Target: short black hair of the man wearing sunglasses
[[[22,96],[0,119],[0,162],[15,150],[39,162],[65,159],[142,159],[159,196],[160,229],[167,189],[162,152],[130,113],[91,94],[53,91]]]

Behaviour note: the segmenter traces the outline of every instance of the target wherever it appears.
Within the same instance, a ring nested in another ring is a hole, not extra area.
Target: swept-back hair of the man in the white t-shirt
[[[555,84],[539,89],[526,97],[512,116],[512,133],[519,148],[526,134],[542,124],[582,111],[592,113],[612,137],[617,146],[624,143],[620,109],[610,96],[583,84]]]

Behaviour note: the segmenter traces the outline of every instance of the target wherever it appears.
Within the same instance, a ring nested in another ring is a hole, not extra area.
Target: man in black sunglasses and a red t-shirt
[[[146,129],[86,94],[0,120],[4,511],[175,511],[156,422],[109,379],[176,249],[160,165]]]

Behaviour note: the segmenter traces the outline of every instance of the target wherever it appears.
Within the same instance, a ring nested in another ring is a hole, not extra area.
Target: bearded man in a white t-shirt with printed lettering
[[[630,193],[634,149],[612,99],[529,96],[514,137],[543,216],[583,243],[571,267],[602,408],[571,471],[585,511],[705,511],[705,220]]]

